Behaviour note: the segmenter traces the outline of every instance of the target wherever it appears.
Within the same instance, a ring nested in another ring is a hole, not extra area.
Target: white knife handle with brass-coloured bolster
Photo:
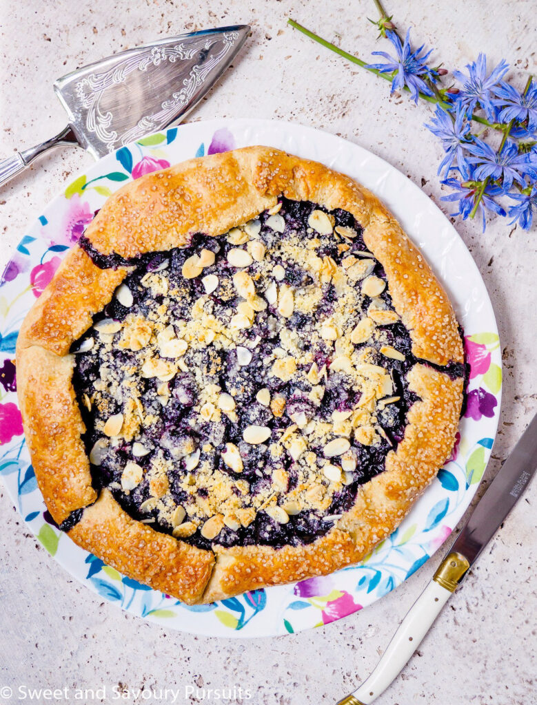
[[[411,606],[373,673],[337,705],[370,705],[385,691],[421,644],[468,568],[469,563],[464,556],[449,553],[433,580]]]

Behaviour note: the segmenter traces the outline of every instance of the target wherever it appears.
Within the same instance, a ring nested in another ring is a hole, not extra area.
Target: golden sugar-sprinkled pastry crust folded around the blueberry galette
[[[390,212],[351,178],[270,147],[192,159],[148,174],[107,200],[85,233],[103,255],[131,258],[186,245],[194,233],[222,235],[274,206],[279,195],[344,209],[382,263],[394,307],[416,357],[463,362],[457,320],[446,293]],[[303,580],[356,563],[392,532],[449,455],[463,381],[423,364],[409,373],[421,398],[386,471],[354,507],[307,546],[193,548],[129,517],[104,490],[97,499],[80,434],[71,374],[73,341],[111,300],[128,269],[99,269],[75,247],[36,302],[17,346],[18,393],[37,481],[56,521],[85,508],[69,535],[115,568],[184,601],[207,602],[270,584]],[[95,501],[97,499],[97,501]]]

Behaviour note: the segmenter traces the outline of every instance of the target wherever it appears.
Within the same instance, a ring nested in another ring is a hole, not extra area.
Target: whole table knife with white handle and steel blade
[[[397,678],[418,648],[452,592],[523,494],[537,468],[537,415],[395,632],[373,673],[337,705],[370,705]]]

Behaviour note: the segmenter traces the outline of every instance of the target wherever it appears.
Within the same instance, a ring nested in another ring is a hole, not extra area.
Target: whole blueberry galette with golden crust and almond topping
[[[447,295],[390,213],[268,147],[111,196],[17,367],[54,520],[188,603],[361,560],[449,455],[464,386]]]

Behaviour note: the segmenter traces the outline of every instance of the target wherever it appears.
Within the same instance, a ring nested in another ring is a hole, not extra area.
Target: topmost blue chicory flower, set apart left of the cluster
[[[438,73],[434,69],[429,68],[426,65],[426,59],[433,49],[430,49],[426,54],[421,56],[423,47],[418,47],[415,51],[412,51],[410,46],[410,30],[406,32],[406,37],[404,39],[404,44],[401,44],[401,39],[395,34],[395,32],[386,32],[387,39],[395,47],[397,52],[397,57],[390,56],[386,54],[385,51],[373,51],[373,56],[383,56],[387,59],[387,63],[370,63],[368,68],[376,68],[380,73],[392,73],[394,72],[394,77],[392,80],[392,93],[394,90],[404,87],[405,85],[409,87],[411,97],[414,101],[418,102],[418,93],[422,92],[425,95],[433,95],[426,82],[421,76],[426,76],[431,80],[435,80]]]

